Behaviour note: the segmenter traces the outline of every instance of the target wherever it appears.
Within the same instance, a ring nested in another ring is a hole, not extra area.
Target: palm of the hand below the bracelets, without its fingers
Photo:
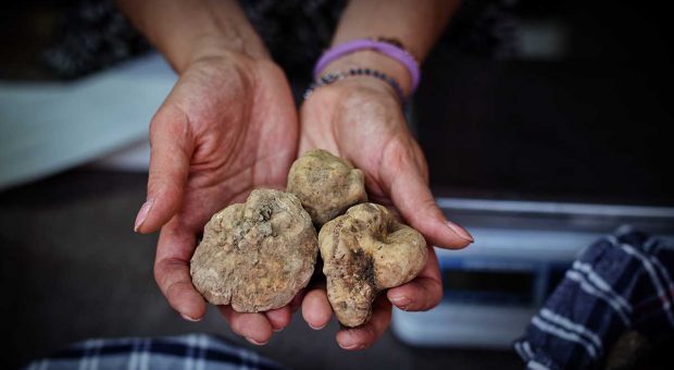
[[[301,122],[300,153],[322,148],[348,159],[363,170],[372,201],[394,206],[391,186],[399,171],[414,171],[427,181],[423,153],[399,102],[386,91],[361,88],[312,96],[302,107]]]

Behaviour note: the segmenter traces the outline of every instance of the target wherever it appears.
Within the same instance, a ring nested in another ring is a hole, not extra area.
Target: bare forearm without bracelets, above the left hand
[[[235,0],[116,1],[178,73],[195,60],[229,51],[269,57]]]

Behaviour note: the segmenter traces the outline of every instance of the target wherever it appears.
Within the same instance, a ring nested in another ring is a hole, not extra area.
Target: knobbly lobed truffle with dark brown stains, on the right
[[[372,303],[386,288],[414,279],[426,263],[426,242],[399,223],[383,206],[362,203],[327,222],[319,234],[327,297],[345,326],[372,314]]]

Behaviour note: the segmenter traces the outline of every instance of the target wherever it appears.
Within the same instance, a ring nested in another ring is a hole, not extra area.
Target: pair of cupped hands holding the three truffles
[[[395,208],[430,245],[461,248],[472,242],[437,208],[426,161],[396,91],[373,77],[348,77],[314,90],[298,116],[285,74],[270,59],[240,52],[203,57],[184,70],[155,113],[150,143],[148,200],[135,229],[151,233],[161,227],[154,276],[186,320],[198,321],[207,310],[189,274],[204,224],[216,211],[245,201],[253,188],[285,188],[292,161],[310,149],[329,150],[361,169],[371,200]],[[342,328],[336,340],[345,349],[366,348],[389,325],[391,304],[427,310],[441,296],[429,247],[415,280],[383,294],[366,324]],[[219,307],[232,330],[253,344],[267,343],[300,308],[311,328],[324,328],[332,317],[325,284],[312,284],[288,306],[266,312]]]

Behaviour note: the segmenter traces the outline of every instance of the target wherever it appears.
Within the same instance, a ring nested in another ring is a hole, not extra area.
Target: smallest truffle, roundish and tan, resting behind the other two
[[[317,226],[367,201],[363,172],[322,149],[308,151],[292,163],[288,193],[300,199]]]

